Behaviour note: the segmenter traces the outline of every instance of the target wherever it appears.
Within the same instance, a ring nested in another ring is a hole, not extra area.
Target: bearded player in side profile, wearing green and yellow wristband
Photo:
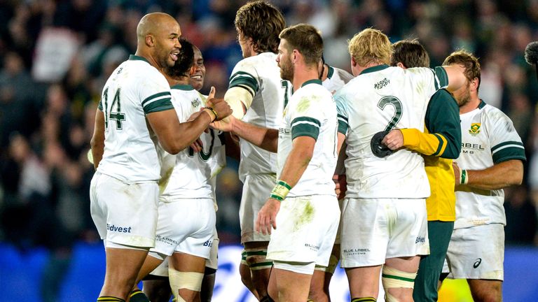
[[[306,301],[315,265],[329,264],[340,219],[332,180],[336,106],[319,80],[323,41],[317,29],[298,24],[284,29],[280,38],[280,75],[294,88],[280,129],[230,117],[226,130],[277,151],[278,181],[256,219],[256,231],[271,234],[267,257],[274,267],[268,301]]]

